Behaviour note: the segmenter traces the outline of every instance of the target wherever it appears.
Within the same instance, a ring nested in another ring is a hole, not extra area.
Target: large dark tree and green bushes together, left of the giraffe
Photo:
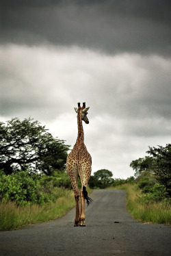
[[[69,148],[31,118],[0,122],[0,201],[42,205],[63,196]]]

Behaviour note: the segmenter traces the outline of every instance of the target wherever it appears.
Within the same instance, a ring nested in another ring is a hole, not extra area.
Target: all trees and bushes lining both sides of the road
[[[0,122],[0,202],[17,205],[54,202],[72,189],[66,172],[70,146],[53,138],[33,119],[18,118]],[[168,199],[171,194],[171,144],[149,147],[148,156],[135,159],[130,166],[135,177],[114,179],[110,170],[97,170],[90,177],[92,189],[105,189],[136,183],[144,201]],[[79,187],[81,181],[78,180]]]

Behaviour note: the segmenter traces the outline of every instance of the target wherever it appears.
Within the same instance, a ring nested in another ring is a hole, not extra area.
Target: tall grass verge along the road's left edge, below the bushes
[[[54,220],[75,206],[74,193],[66,190],[55,203],[18,206],[14,202],[0,203],[0,230],[20,229],[29,224]]]

